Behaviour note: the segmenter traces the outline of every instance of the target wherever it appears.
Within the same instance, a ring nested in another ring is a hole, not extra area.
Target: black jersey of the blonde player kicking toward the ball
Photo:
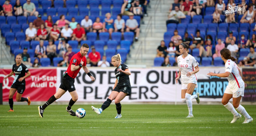
[[[128,67],[125,65],[125,64],[121,64],[118,68],[121,68],[122,70],[125,71],[125,69],[128,69]],[[117,78],[117,87],[120,87],[120,86],[131,86],[130,84],[130,78],[129,78],[129,75],[123,73],[123,72],[120,72],[118,71],[116,68],[115,69],[115,76]]]

